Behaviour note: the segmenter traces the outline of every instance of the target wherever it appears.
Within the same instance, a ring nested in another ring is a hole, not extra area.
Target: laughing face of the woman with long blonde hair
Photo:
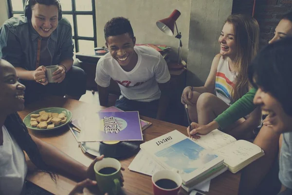
[[[219,37],[220,54],[222,56],[235,58],[237,55],[237,45],[235,39],[233,24],[226,22]]]

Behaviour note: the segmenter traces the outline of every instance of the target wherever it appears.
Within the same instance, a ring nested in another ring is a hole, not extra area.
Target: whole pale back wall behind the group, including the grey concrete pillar
[[[224,20],[231,14],[233,0],[95,0],[97,44],[104,46],[103,28],[113,17],[131,21],[137,43],[166,44],[177,52],[178,39],[156,26],[174,9],[182,32],[183,53],[187,60],[187,85],[201,85],[208,77],[212,60],[219,52],[218,38]],[[0,25],[8,19],[7,1],[0,0]],[[176,55],[174,55],[176,57]]]

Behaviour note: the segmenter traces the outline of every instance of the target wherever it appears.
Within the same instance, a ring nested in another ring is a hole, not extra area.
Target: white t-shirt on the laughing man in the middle
[[[109,87],[112,78],[127,99],[144,102],[159,99],[161,91],[158,83],[165,83],[170,79],[164,58],[150,47],[135,46],[134,50],[138,55],[138,62],[130,72],[124,71],[110,53],[99,59],[95,82],[101,87]]]

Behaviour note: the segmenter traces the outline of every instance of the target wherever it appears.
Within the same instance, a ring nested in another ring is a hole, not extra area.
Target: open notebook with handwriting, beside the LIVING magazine
[[[200,139],[193,139],[193,141],[223,157],[224,164],[228,166],[232,173],[237,173],[248,164],[265,155],[264,151],[257,145],[246,140],[236,140],[236,138],[218,129],[201,136]]]

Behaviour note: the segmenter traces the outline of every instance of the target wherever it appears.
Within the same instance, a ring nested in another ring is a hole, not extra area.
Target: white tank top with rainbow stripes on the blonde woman
[[[235,72],[229,70],[227,58],[221,56],[217,67],[215,90],[216,96],[228,105],[233,103],[231,91],[235,86],[235,78]]]

